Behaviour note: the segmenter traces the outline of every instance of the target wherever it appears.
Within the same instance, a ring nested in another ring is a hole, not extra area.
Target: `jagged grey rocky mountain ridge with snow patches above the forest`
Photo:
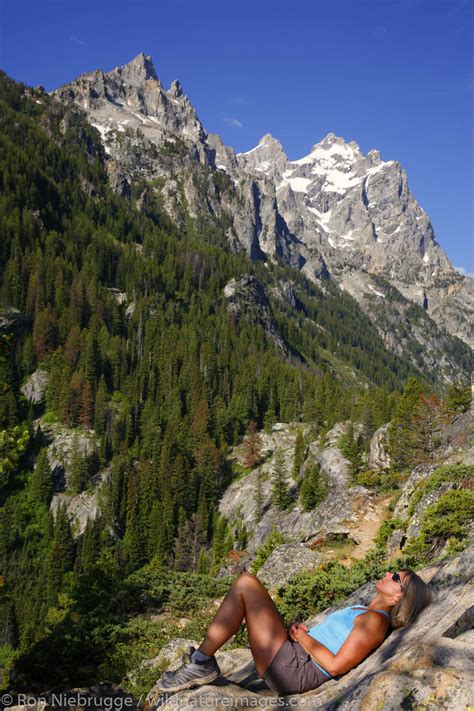
[[[368,295],[385,309],[373,276],[384,277],[472,346],[473,280],[437,244],[398,162],[382,161],[376,150],[364,156],[334,134],[296,161],[269,134],[236,154],[206,133],[179,82],[164,89],[143,53],[53,93],[80,106],[100,132],[118,192],[129,194],[137,178],[164,179],[154,189],[173,218],[185,207],[194,217],[224,219],[234,249],[283,259],[315,281],[330,275],[369,316]]]

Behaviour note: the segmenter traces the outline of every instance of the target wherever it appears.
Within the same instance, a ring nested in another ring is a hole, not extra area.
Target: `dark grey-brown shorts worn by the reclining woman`
[[[298,642],[289,639],[283,642],[263,675],[266,685],[283,696],[316,689],[329,678]]]

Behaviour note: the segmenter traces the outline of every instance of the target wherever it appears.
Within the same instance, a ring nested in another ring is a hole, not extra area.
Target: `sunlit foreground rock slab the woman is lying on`
[[[385,642],[338,681],[299,696],[277,698],[256,674],[252,661],[226,670],[214,685],[179,692],[164,699],[157,690],[145,708],[168,703],[173,708],[196,706],[283,705],[317,707],[332,711],[395,711],[400,708],[464,711],[474,698],[474,645],[470,627],[474,605],[474,546],[435,566],[418,571],[434,591],[433,602],[409,627],[393,631]],[[341,603],[341,607],[367,604],[373,596],[368,584]],[[308,620],[312,626],[332,610]],[[235,650],[237,651],[237,650]],[[229,655],[235,654],[229,651]]]

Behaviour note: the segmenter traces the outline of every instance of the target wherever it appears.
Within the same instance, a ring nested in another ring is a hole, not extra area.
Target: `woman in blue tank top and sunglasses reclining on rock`
[[[316,689],[345,674],[384,641],[389,627],[413,622],[429,604],[428,586],[412,570],[387,573],[375,583],[368,607],[357,605],[331,613],[308,629],[283,619],[260,580],[242,573],[222,601],[197,650],[183,657],[177,671],[164,672],[157,687],[175,692],[209,684],[220,675],[214,657],[245,620],[257,672],[281,695]]]

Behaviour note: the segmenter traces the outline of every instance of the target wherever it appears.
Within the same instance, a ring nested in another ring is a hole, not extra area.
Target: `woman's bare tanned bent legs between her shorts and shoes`
[[[275,603],[251,573],[242,573],[234,582],[199,649],[212,656],[237,632],[244,619],[255,666],[263,676],[288,635]]]

